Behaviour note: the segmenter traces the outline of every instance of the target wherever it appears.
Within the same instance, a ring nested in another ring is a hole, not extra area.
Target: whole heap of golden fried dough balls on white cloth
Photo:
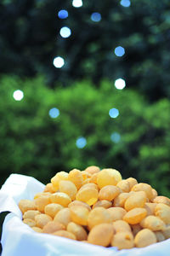
[[[34,231],[103,247],[146,247],[170,238],[170,199],[111,168],[58,172],[19,207]]]

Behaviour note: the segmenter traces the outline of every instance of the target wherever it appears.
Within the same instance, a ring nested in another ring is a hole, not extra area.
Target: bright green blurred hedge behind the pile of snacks
[[[149,104],[139,92],[116,90],[108,80],[96,89],[84,80],[49,89],[44,78],[0,80],[1,183],[12,172],[48,183],[56,172],[90,165],[114,167],[170,196],[170,102]],[[16,102],[14,90],[25,97]],[[59,108],[59,117],[48,112]],[[111,119],[109,110],[119,116]],[[119,142],[111,134],[120,135]],[[78,137],[87,145],[77,148]]]

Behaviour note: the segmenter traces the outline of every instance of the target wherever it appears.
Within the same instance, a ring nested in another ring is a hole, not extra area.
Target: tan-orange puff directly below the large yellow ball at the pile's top
[[[112,201],[121,193],[121,189],[113,185],[107,185],[99,190],[99,200]]]

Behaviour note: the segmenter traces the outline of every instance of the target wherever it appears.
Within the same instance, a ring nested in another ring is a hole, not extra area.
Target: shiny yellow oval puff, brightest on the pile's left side
[[[50,201],[63,207],[67,207],[68,204],[71,203],[71,197],[62,192],[56,192],[50,196]]]

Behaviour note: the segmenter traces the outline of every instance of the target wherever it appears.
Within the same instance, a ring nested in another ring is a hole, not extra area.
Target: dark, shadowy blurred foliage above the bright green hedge
[[[71,0],[3,0],[0,3],[0,73],[46,76],[49,86],[65,86],[75,79],[122,78],[129,88],[151,102],[170,96],[170,2],[132,0],[126,8],[121,0],[83,1],[74,8]],[[58,17],[60,9],[68,18]],[[99,22],[91,15],[99,12]],[[71,28],[70,38],[59,30]],[[125,55],[114,49],[122,45]],[[65,66],[53,66],[56,56]]]

